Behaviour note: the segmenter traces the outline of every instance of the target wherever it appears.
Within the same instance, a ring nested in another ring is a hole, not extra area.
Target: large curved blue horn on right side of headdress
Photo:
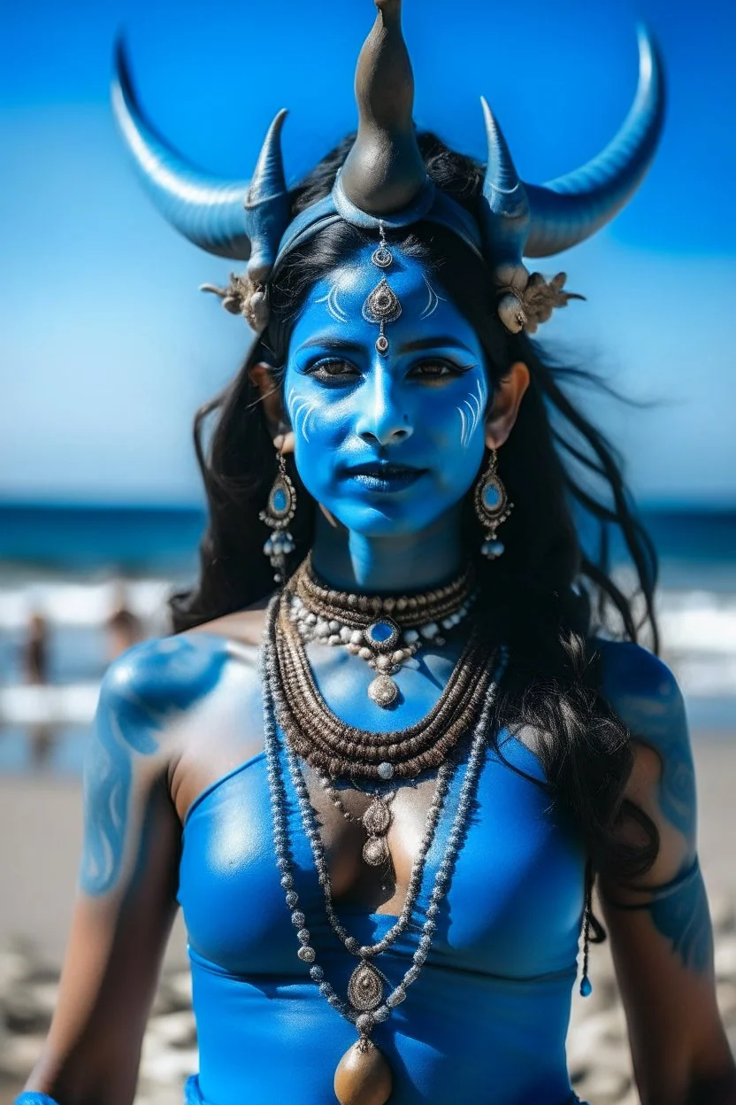
[[[589,238],[631,199],[647,172],[664,120],[664,77],[650,34],[639,29],[639,86],[621,129],[583,168],[526,185],[532,221],[524,254],[546,257]]]

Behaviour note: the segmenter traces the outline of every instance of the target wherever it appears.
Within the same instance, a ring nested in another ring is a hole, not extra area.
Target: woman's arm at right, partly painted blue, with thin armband
[[[669,669],[646,650],[599,645],[604,694],[634,739],[627,797],[660,833],[647,875],[626,885],[600,883],[641,1102],[736,1105],[736,1067],[716,1004],[711,918],[696,866],[695,775],[682,695]],[[622,832],[637,839],[633,825]],[[671,893],[652,892],[669,883]]]

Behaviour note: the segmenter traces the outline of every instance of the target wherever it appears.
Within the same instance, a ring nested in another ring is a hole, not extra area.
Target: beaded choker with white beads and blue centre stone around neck
[[[445,643],[449,631],[467,617],[476,598],[474,573],[468,566],[457,579],[418,594],[365,596],[337,591],[321,580],[311,555],[289,581],[292,619],[306,641],[342,645],[376,672],[367,688],[378,706],[393,705],[398,686],[392,676],[425,642]]]

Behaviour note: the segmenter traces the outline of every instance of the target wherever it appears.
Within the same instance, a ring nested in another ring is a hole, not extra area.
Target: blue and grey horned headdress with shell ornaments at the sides
[[[649,168],[662,129],[664,84],[651,38],[639,32],[639,85],[609,145],[587,165],[546,185],[529,185],[514,167],[501,128],[481,99],[488,161],[477,220],[427,175],[413,119],[414,76],[402,33],[402,0],[375,0],[377,15],[358,60],[355,143],[330,196],[295,219],[284,159],[280,110],[250,181],[221,180],[189,165],[143,115],[122,45],[113,84],[115,113],[142,181],[161,213],[191,242],[247,261],[217,292],[223,305],[260,330],[268,320],[268,280],[277,262],[339,220],[378,233],[419,220],[439,223],[486,259],[508,329],[533,333],[570,297],[565,274],[530,274],[523,257],[546,257],[583,242],[628,203]]]

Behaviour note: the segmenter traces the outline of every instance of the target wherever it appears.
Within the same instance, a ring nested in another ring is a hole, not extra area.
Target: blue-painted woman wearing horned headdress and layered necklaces
[[[401,3],[376,7],[355,141],[287,192],[279,115],[245,211],[242,186],[162,146],[121,66],[118,116],[159,204],[249,254],[214,291],[258,339],[200,419],[217,415],[206,455],[198,430],[210,526],[179,635],[105,680],[58,1009],[19,1102],[131,1102],[178,901],[192,1102],[575,1101],[595,874],[642,1101],[733,1103],[682,701],[582,554],[570,501],[620,527],[653,625],[652,551],[527,337],[564,277],[521,262],[636,189],[657,60],[644,41],[585,196],[575,175],[525,188],[487,107],[486,173],[417,139]],[[622,640],[595,636],[594,606]]]

